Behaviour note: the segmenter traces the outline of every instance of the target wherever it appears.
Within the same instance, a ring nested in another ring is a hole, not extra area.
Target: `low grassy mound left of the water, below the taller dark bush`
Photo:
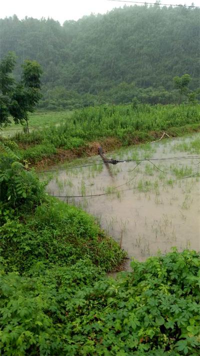
[[[50,199],[32,215],[0,227],[0,249],[8,270],[27,272],[37,261],[69,265],[87,257],[102,269],[113,270],[125,253],[107,237],[94,219],[75,207]]]

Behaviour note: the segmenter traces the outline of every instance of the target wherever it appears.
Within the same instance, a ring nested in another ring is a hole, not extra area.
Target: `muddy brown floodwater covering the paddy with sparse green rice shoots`
[[[199,140],[197,134],[105,153],[133,160],[116,165],[99,156],[74,161],[85,167],[46,173],[47,191],[95,216],[129,259],[143,261],[172,246],[199,250]]]

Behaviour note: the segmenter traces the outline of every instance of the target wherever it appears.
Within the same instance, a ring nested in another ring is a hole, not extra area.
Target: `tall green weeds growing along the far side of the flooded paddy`
[[[34,163],[52,155],[55,148],[84,147],[89,141],[106,137],[117,138],[126,146],[153,139],[153,132],[171,130],[176,135],[183,126],[185,130],[186,125],[197,128],[199,121],[198,105],[102,105],[76,111],[70,117],[67,113],[65,122],[60,125],[35,130],[29,135],[18,133],[14,139],[34,145],[21,153],[24,159]]]

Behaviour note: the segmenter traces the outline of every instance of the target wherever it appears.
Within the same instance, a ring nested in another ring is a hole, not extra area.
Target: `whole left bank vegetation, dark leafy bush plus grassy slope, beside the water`
[[[113,270],[125,253],[94,219],[44,193],[44,183],[1,144],[0,249],[8,270],[27,271],[37,261],[68,265],[87,257]]]

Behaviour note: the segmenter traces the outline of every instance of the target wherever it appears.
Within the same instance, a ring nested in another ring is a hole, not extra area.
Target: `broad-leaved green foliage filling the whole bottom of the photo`
[[[113,280],[83,260],[0,277],[4,355],[199,354],[199,255],[175,250]]]

